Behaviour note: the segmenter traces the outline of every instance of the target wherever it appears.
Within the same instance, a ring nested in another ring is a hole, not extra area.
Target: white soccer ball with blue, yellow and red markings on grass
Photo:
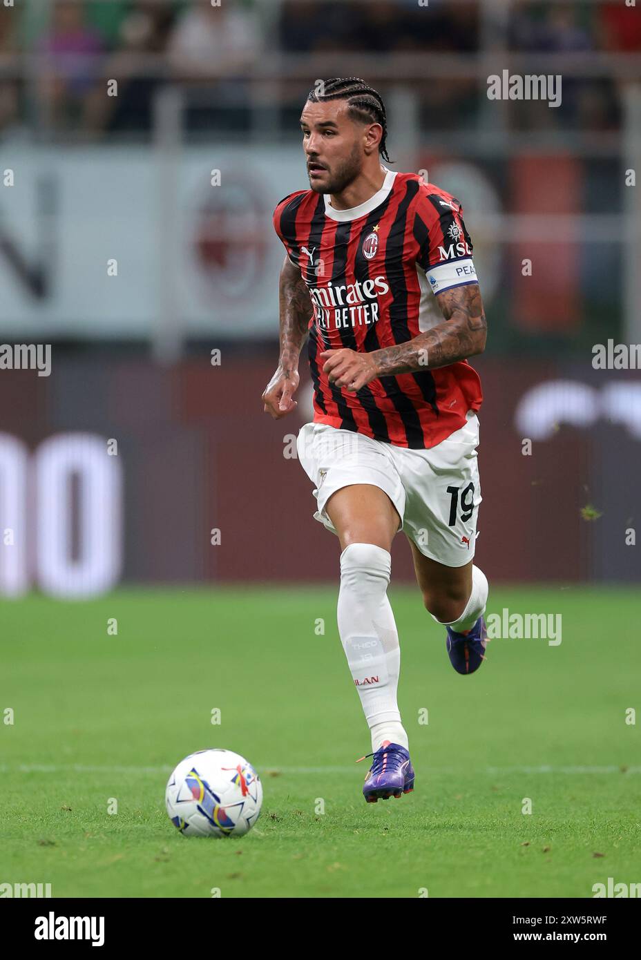
[[[167,781],[169,818],[185,836],[243,836],[255,824],[263,784],[245,757],[231,750],[185,756]]]

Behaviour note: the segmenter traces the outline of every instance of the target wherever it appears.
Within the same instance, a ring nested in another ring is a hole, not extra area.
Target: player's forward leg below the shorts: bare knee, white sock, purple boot
[[[415,780],[396,699],[400,647],[387,595],[400,518],[388,494],[371,484],[334,492],[324,511],[342,547],[339,634],[371,734],[363,793],[376,803],[409,793]]]

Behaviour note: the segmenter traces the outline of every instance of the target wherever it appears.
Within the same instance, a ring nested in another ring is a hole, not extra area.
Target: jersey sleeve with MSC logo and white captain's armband
[[[478,283],[472,241],[463,220],[463,206],[443,191],[420,191],[415,209],[416,263],[434,294],[466,283]]]

